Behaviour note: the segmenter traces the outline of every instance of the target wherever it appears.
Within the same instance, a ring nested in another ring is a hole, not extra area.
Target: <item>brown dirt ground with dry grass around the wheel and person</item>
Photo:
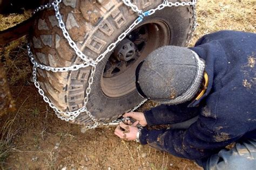
[[[255,32],[255,6],[254,0],[199,1],[191,46],[203,34],[218,30]],[[13,24],[4,16],[0,19],[2,26]],[[1,140],[8,144],[2,169],[200,169],[193,161],[122,141],[113,127],[81,133],[80,126],[60,121],[29,83],[25,38],[0,46],[0,55],[16,101],[16,111],[0,118]],[[146,103],[142,110],[150,106]],[[4,134],[9,134],[7,139]]]

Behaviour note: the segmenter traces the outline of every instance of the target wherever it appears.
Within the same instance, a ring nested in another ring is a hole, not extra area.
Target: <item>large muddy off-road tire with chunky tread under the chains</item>
[[[163,0],[134,2],[146,11],[156,8]],[[60,12],[71,38],[85,55],[93,59],[104,52],[138,17],[118,0],[64,0],[60,4]],[[184,46],[190,37],[192,24],[192,6],[165,8],[146,17],[139,25],[147,30],[144,47],[140,49],[139,58],[128,69],[117,76],[104,76],[104,68],[106,69],[109,59],[105,58],[97,65],[87,104],[92,115],[100,122],[109,122],[140,103],[143,98],[135,88],[134,69],[153,49],[169,44]],[[145,34],[145,30],[137,32]],[[34,24],[31,44],[36,59],[45,65],[65,67],[81,63],[59,29],[52,9],[42,11],[39,15]],[[110,55],[111,53],[107,56]],[[51,102],[60,110],[75,111],[83,106],[90,69],[91,67],[64,73],[38,69],[38,81]],[[111,73],[113,72],[112,68]],[[92,121],[85,113],[81,113],[73,123],[88,125]]]

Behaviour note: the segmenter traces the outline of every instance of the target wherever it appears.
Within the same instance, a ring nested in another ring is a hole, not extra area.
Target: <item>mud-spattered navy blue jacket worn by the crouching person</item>
[[[199,116],[188,129],[149,130],[140,135],[149,144],[203,165],[234,141],[256,139],[256,34],[220,31],[200,38],[191,48],[206,62],[209,84],[199,101],[160,105],[145,112],[149,126],[172,124]]]

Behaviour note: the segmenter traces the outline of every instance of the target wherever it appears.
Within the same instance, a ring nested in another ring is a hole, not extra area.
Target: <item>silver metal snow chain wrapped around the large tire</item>
[[[60,118],[64,121],[72,121],[77,116],[79,116],[79,114],[81,112],[85,112],[86,115],[89,116],[91,118],[91,120],[93,121],[93,123],[94,123],[93,125],[86,126],[85,128],[87,128],[87,129],[95,129],[98,126],[118,125],[118,123],[123,121],[123,119],[117,119],[117,120],[112,121],[110,123],[99,123],[99,122],[97,122],[96,118],[91,115],[91,112],[89,110],[87,110],[87,108],[86,108],[86,104],[89,101],[89,95],[91,93],[91,85],[93,83],[93,76],[95,74],[95,70],[96,70],[96,66],[97,66],[98,62],[102,61],[105,58],[105,55],[107,53],[112,52],[113,49],[117,46],[117,44],[120,41],[122,41],[127,36],[127,34],[129,34],[134,29],[134,27],[136,27],[139,23],[141,23],[143,21],[144,17],[153,15],[153,13],[155,13],[157,10],[162,10],[166,6],[171,7],[171,6],[185,6],[185,5],[190,6],[190,5],[193,5],[194,23],[193,23],[193,27],[192,27],[192,32],[196,29],[197,24],[196,24],[196,10],[195,10],[196,8],[195,8],[195,5],[197,3],[197,0],[193,0],[192,2],[176,2],[176,3],[172,3],[172,2],[169,2],[169,1],[165,0],[162,4],[158,5],[156,9],[151,9],[151,10],[146,11],[146,12],[143,12],[142,10],[139,10],[138,7],[136,5],[134,5],[130,0],[122,0],[122,1],[126,6],[129,6],[134,12],[137,12],[139,17],[129,26],[129,28],[127,30],[125,30],[122,34],[120,34],[117,41],[110,44],[107,47],[106,51],[103,52],[102,54],[100,54],[96,60],[90,59],[86,55],[84,55],[83,52],[81,52],[80,49],[77,47],[76,43],[71,39],[68,31],[66,30],[65,24],[62,20],[62,16],[60,15],[60,12],[59,12],[58,5],[59,5],[59,3],[62,2],[62,0],[55,0],[52,3],[39,6],[33,12],[33,13],[36,13],[36,12],[44,10],[44,9],[49,9],[53,6],[53,8],[55,10],[55,13],[56,13],[55,16],[58,20],[59,27],[63,32],[63,36],[66,38],[66,40],[68,40],[70,47],[73,48],[73,50],[76,52],[76,54],[79,56],[79,58],[84,61],[82,64],[72,65],[72,66],[69,66],[69,67],[45,66],[45,65],[42,65],[41,63],[38,63],[35,60],[35,58],[33,57],[32,52],[31,52],[30,45],[28,44],[28,55],[29,55],[29,58],[30,58],[31,62],[33,63],[32,75],[33,75],[33,81],[35,83],[35,86],[38,89],[39,94],[41,96],[43,96],[43,100],[46,103],[48,103],[49,106],[55,111],[58,118]],[[52,72],[68,72],[69,70],[78,70],[80,68],[85,68],[85,67],[89,67],[89,66],[91,66],[92,68],[91,68],[91,74],[90,74],[89,81],[88,81],[88,87],[85,90],[86,97],[84,98],[83,107],[76,110],[76,111],[72,111],[72,112],[60,111],[57,107],[55,107],[55,105],[53,103],[50,102],[50,99],[45,95],[44,91],[42,90],[42,88],[40,87],[40,84],[37,81],[37,75],[36,75],[37,68],[44,69],[46,71],[52,71]],[[134,110],[138,109],[146,101],[147,101],[147,99],[145,99],[142,103],[140,103],[137,107],[135,107],[131,111],[134,111]]]

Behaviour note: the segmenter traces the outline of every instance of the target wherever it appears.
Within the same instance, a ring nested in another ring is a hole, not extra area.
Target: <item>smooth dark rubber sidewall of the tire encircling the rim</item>
[[[143,25],[150,20],[161,20],[166,23],[170,29],[171,39],[169,45],[184,46],[188,34],[190,33],[192,24],[192,15],[189,8],[190,7],[185,6],[178,8],[165,8],[161,11],[156,11],[156,13],[154,13],[152,16],[144,18],[144,21],[140,25]],[[119,10],[123,12],[124,16],[127,15],[127,13],[130,13],[127,11],[127,7],[124,5],[120,6]],[[130,26],[135,19],[135,15],[133,15],[132,19],[127,19],[127,23],[125,26],[123,26],[123,28]],[[117,34],[119,35],[125,30],[126,29],[117,29],[115,31],[117,31]],[[97,36],[97,33],[95,33],[93,36]],[[116,41],[117,37],[118,36],[111,36],[108,41],[109,44]],[[106,47],[107,45],[105,46],[105,49]],[[86,53],[86,51],[84,51],[84,53]],[[91,111],[92,115],[95,116],[100,122],[109,122],[110,120],[121,116],[124,112],[129,111],[138,103],[143,101],[143,98],[139,96],[136,90],[132,91],[132,93],[128,95],[116,98],[107,97],[103,93],[100,81],[102,80],[103,70],[110,54],[111,52],[107,54],[96,67],[96,74],[92,85],[90,100],[87,103],[87,107]],[[79,117],[83,118],[83,114],[84,113],[82,113]]]

